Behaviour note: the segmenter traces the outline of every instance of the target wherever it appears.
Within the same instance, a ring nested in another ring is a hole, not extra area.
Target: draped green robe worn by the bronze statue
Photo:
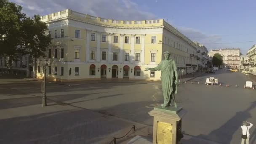
[[[177,67],[175,61],[172,59],[163,60],[155,68],[150,68],[152,71],[161,70],[161,83],[163,89],[164,97],[164,106],[167,106],[171,103],[170,96],[177,93],[177,85],[174,81],[178,80],[178,77],[175,77],[175,72],[177,72]]]

